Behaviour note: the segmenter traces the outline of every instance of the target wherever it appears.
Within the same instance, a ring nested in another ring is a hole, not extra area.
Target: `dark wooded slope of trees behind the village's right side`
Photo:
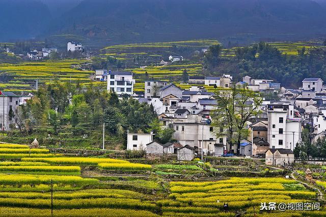
[[[286,56],[266,43],[237,48],[234,57],[221,57],[222,46],[214,45],[205,53],[208,71],[232,73],[234,80],[249,75],[273,79],[284,87],[297,88],[305,77],[326,79],[326,49],[303,48],[297,56]]]

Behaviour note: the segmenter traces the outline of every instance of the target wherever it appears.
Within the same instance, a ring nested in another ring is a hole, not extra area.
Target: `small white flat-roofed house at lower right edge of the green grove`
[[[146,150],[146,145],[153,141],[153,133],[127,133],[127,150]]]

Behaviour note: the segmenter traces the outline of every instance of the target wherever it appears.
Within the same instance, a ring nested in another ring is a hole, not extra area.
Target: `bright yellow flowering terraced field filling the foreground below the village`
[[[0,216],[51,216],[51,183],[53,216],[235,216],[239,212],[243,216],[326,215],[323,208],[259,211],[264,202],[316,201],[315,192],[292,179],[169,181],[165,176],[188,172],[198,175],[203,168],[194,164],[151,166],[103,157],[21,157],[19,152],[26,149],[22,145],[0,144],[0,149],[16,154],[11,159],[0,157]],[[227,210],[224,203],[228,203]]]

